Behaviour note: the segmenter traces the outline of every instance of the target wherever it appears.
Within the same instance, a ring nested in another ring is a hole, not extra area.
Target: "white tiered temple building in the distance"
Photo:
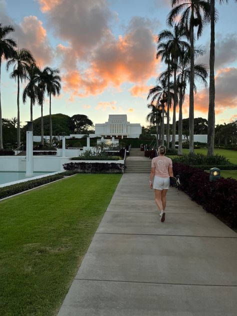
[[[130,123],[127,121],[126,114],[110,114],[108,121],[103,124],[95,124],[96,136],[115,136],[136,138],[141,134],[141,125],[139,123]]]

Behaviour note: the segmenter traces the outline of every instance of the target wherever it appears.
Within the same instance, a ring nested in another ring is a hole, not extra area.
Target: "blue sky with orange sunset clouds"
[[[11,37],[29,49],[43,68],[58,68],[61,93],[52,99],[52,113],[85,114],[93,123],[109,114],[127,114],[131,123],[146,126],[149,88],[165,65],[155,59],[157,34],[168,28],[170,0],[0,0],[0,23],[13,25]],[[218,1],[216,1],[218,2]],[[237,117],[237,4],[216,4],[215,123]],[[208,65],[209,24],[196,45],[206,53],[198,62]],[[197,61],[196,61],[197,62]],[[1,65],[2,117],[17,116],[16,82]],[[20,86],[21,94],[25,86]],[[44,115],[49,113],[48,98]],[[207,118],[208,87],[197,83],[194,117]],[[171,112],[172,115],[172,112]],[[33,107],[33,119],[40,107]],[[29,120],[29,99],[20,99],[20,121]],[[183,118],[188,117],[188,91]],[[178,118],[178,110],[176,119]]]

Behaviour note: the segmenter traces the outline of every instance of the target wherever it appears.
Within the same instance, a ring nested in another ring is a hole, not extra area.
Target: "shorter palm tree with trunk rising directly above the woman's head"
[[[159,106],[161,107],[162,110],[162,120],[161,120],[161,145],[164,144],[164,113],[165,113],[165,103],[168,104],[167,102],[167,97],[168,97],[168,85],[167,85],[167,79],[163,78],[158,80],[160,84],[155,85],[153,88],[149,89],[149,93],[147,96],[147,99],[151,96],[151,104],[154,104],[156,101],[156,104],[159,103]],[[171,92],[169,91],[169,94]],[[173,93],[172,97],[173,97]],[[169,108],[169,106],[167,106]],[[166,141],[167,142],[167,141]]]

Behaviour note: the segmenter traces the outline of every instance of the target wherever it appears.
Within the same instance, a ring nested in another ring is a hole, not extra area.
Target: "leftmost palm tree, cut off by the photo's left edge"
[[[14,54],[14,47],[16,47],[16,42],[12,38],[6,38],[6,36],[13,32],[14,28],[11,25],[2,25],[0,23],[0,80],[1,80],[1,58],[7,60],[11,58]],[[1,81],[0,81],[1,82]],[[1,116],[1,91],[0,91],[0,149],[3,149],[2,143],[2,116]]]

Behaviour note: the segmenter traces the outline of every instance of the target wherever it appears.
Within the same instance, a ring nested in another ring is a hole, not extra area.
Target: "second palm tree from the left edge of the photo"
[[[14,55],[6,63],[6,70],[13,65],[13,71],[10,78],[17,81],[17,147],[20,146],[20,113],[19,113],[19,83],[26,78],[26,65],[34,62],[34,58],[28,49],[21,48],[14,50]]]

